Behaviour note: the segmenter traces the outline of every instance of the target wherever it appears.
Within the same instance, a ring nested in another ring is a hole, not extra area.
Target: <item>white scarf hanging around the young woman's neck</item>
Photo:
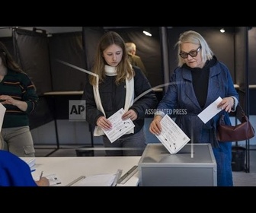
[[[115,67],[105,65],[105,73],[108,76],[115,76],[117,75],[117,70]],[[97,78],[97,84],[96,86],[93,87],[94,100],[96,102],[97,109],[100,110],[102,113],[104,113],[104,116],[106,116],[103,106],[101,104],[101,97],[98,90],[98,81],[99,81],[98,76],[96,78]],[[134,99],[134,81],[133,81],[133,78],[131,78],[130,80],[126,78],[126,100],[125,100],[124,109],[123,109],[125,112],[129,110],[130,106],[133,106],[133,99]],[[131,129],[130,131],[126,132],[126,134],[130,134],[133,132],[134,132],[134,129]],[[95,126],[94,136],[100,136],[104,134],[105,133],[103,132],[101,127]]]

